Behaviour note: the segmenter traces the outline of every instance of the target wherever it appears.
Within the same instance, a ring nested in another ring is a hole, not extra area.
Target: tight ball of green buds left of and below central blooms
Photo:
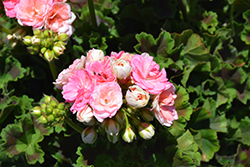
[[[64,120],[65,105],[59,103],[54,97],[44,95],[40,106],[35,106],[31,114],[35,116],[39,123],[53,126]]]

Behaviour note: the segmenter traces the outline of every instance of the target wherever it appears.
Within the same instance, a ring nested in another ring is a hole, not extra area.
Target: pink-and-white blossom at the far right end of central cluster
[[[173,121],[178,119],[178,114],[174,107],[174,100],[177,97],[174,91],[174,85],[169,83],[167,89],[156,95],[152,103],[156,119],[165,126],[171,126]]]

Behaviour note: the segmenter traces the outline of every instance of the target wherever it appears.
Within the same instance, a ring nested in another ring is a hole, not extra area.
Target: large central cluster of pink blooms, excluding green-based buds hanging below
[[[54,82],[63,98],[72,103],[77,120],[93,125],[112,118],[123,107],[150,107],[155,118],[165,126],[178,119],[174,107],[175,87],[164,68],[147,53],[134,55],[121,51],[105,56],[92,49],[87,57],[76,59]],[[151,99],[151,100],[150,100]],[[149,101],[152,101],[149,104]]]

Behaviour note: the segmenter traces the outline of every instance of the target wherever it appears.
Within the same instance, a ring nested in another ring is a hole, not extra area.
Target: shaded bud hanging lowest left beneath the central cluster
[[[82,141],[84,143],[93,144],[97,139],[97,133],[94,127],[89,126],[82,132]]]

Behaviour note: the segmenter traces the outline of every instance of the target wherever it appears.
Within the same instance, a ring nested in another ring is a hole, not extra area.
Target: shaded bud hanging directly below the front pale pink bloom
[[[115,136],[118,135],[120,131],[120,126],[114,119],[106,119],[104,126],[107,135]]]

